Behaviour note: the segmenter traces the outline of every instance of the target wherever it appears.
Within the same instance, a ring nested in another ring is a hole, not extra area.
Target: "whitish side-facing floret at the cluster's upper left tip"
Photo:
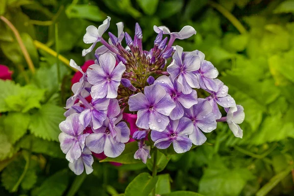
[[[92,44],[92,46],[90,46],[89,49],[83,49],[82,56],[85,56],[86,54],[91,52],[94,49],[97,42],[100,42],[103,33],[109,27],[110,20],[111,20],[111,18],[109,16],[107,16],[107,19],[105,19],[103,21],[103,24],[98,26],[98,28],[96,28],[93,25],[90,25],[86,28],[86,34],[84,35],[83,41],[85,44],[92,44],[92,43],[93,44]]]

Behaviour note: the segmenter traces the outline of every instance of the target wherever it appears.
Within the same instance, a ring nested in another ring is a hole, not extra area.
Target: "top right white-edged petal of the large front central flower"
[[[165,97],[166,91],[158,85],[150,85],[144,88],[144,95],[150,105],[156,105],[162,98]]]

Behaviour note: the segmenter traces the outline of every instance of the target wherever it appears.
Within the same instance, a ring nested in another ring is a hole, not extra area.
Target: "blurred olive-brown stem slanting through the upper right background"
[[[228,10],[226,10],[223,6],[221,6],[221,4],[219,3],[216,3],[214,1],[208,1],[208,4],[214,8],[216,8],[219,12],[221,12],[221,14],[227,18],[231,23],[232,25],[234,25],[238,31],[241,33],[241,34],[244,34],[246,33],[246,29],[245,27],[240,23],[240,21],[238,21],[238,19],[233,15],[231,14]]]

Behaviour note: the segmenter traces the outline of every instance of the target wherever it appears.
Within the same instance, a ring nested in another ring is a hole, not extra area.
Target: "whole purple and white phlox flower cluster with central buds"
[[[171,32],[166,26],[154,25],[158,34],[154,46],[144,50],[139,24],[132,38],[123,31],[123,23],[118,23],[118,35],[109,32],[105,41],[102,35],[110,20],[107,17],[98,28],[91,25],[86,29],[83,41],[92,45],[82,51],[83,56],[98,42],[102,44],[95,51],[95,64],[83,72],[70,61],[82,77],[73,84],[73,96],[66,102],[67,118],[59,124],[59,141],[74,173],[93,171],[92,152],[120,156],[130,138],[138,142],[134,158],[144,163],[154,147],[172,145],[176,153],[183,153],[202,145],[205,133],[215,130],[217,122],[227,122],[233,134],[242,138],[238,124],[244,121],[244,109],[217,79],[218,70],[201,51],[172,46],[175,39],[196,34],[192,26]],[[201,95],[204,91],[210,95],[199,98],[197,92],[201,91]],[[220,106],[226,116],[222,117]],[[132,135],[123,120],[126,113],[137,115]]]

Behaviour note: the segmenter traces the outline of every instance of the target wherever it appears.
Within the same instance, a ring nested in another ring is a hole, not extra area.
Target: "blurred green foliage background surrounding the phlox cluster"
[[[243,139],[218,123],[205,145],[162,157],[159,194],[294,195],[294,0],[0,0],[0,15],[0,64],[18,83],[0,80],[1,196],[117,195],[148,172],[143,163],[115,167],[96,160],[92,174],[76,177],[59,148],[58,124],[74,73],[68,60],[94,59],[81,56],[89,47],[82,37],[106,16],[115,35],[116,23],[133,35],[138,22],[147,50],[156,37],[153,25],[172,32],[192,25],[197,34],[175,44],[204,52],[245,108]]]

